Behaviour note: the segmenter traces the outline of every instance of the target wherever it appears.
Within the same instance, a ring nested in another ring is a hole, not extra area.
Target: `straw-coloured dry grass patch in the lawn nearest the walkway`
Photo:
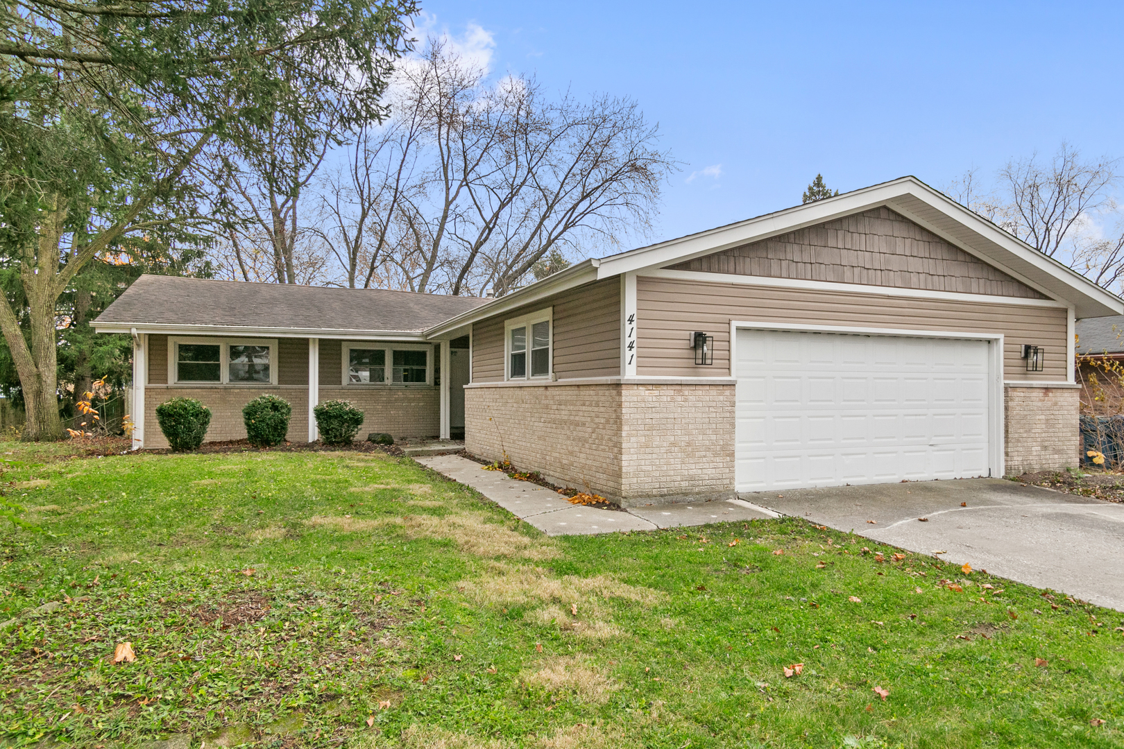
[[[411,539],[433,538],[453,541],[466,554],[479,557],[523,557],[545,560],[559,555],[552,541],[533,539],[510,528],[490,522],[482,513],[406,515],[404,518],[347,518],[315,515],[309,526],[327,527],[344,532],[371,531],[378,528],[400,528]]]

